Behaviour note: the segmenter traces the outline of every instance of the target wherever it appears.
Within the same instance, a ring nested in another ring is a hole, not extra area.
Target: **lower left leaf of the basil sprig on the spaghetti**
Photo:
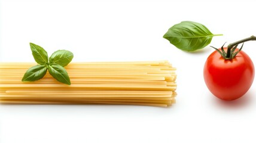
[[[47,72],[47,66],[36,65],[29,68],[24,74],[23,82],[33,82],[35,80],[42,79]]]

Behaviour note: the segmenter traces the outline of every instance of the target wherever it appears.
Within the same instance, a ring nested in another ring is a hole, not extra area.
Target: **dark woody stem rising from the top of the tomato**
[[[236,42],[230,43],[230,44],[227,46],[227,54],[226,54],[226,56],[225,56],[224,58],[227,59],[227,60],[230,60],[230,59],[234,58],[234,56],[236,56],[236,54],[237,54],[238,52],[236,52],[235,54],[233,54],[234,50],[232,50],[232,51],[233,51],[233,52],[232,52],[231,49],[232,49],[232,48],[236,48],[239,43],[244,43],[244,42],[246,42],[246,41],[256,41],[256,36],[253,36],[253,35],[252,35],[252,36],[249,37],[249,38],[245,38],[245,39],[242,39],[242,40],[240,40],[240,41],[236,41]],[[240,49],[242,49],[242,48],[240,48]],[[240,52],[240,49],[239,49],[239,52]]]

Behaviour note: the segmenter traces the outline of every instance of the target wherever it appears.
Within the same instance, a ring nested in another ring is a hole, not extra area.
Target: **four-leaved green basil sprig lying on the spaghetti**
[[[39,65],[29,68],[24,74],[23,82],[33,82],[42,79],[49,70],[51,76],[53,76],[59,82],[71,85],[68,73],[64,69],[73,59],[72,52],[67,50],[58,50],[54,52],[48,60],[48,54],[41,46],[30,43],[33,58]]]

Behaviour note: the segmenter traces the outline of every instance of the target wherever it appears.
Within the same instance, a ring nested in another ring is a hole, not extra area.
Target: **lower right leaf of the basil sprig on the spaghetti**
[[[71,85],[68,73],[64,69],[64,67],[59,64],[50,64],[48,66],[49,73],[59,82],[65,83],[67,85]]]

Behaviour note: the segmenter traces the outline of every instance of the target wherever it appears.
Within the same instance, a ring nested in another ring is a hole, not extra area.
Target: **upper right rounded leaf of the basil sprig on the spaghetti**
[[[60,66],[65,67],[72,61],[73,57],[74,55],[70,51],[58,50],[51,55],[50,64],[59,64]]]

